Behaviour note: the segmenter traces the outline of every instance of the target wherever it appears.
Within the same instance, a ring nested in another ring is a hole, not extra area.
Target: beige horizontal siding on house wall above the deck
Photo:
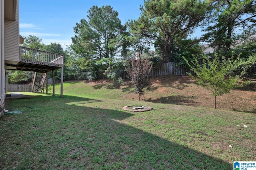
[[[18,3],[18,2],[17,2]],[[19,20],[18,20],[18,4],[16,8],[16,20],[5,20],[4,36],[5,36],[5,60],[19,60]]]

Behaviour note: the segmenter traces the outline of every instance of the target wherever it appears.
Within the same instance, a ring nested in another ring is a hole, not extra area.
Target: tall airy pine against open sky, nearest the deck
[[[72,37],[72,49],[82,54],[88,61],[99,61],[115,57],[122,49],[118,43],[112,43],[123,28],[118,12],[111,6],[92,6],[88,11],[88,21],[82,19],[76,23]],[[107,65],[107,63],[104,63]],[[108,66],[106,66],[108,67]]]

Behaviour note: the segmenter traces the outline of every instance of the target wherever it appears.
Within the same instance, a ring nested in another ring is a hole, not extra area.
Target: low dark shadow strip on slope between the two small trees
[[[176,105],[186,105],[186,106],[197,106],[198,102],[195,100],[196,97],[191,96],[168,96],[168,97],[162,97],[157,99],[149,98],[148,100],[145,100],[146,102],[152,102],[152,103],[162,103],[162,104],[176,104]]]

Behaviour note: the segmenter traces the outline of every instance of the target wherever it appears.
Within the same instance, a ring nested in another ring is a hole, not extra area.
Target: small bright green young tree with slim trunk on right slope
[[[240,80],[238,75],[234,75],[234,70],[240,65],[239,58],[234,59],[234,56],[230,59],[222,57],[222,61],[219,60],[217,54],[215,54],[215,58],[212,61],[204,56],[202,58],[202,64],[200,64],[197,57],[194,57],[194,61],[191,63],[187,59],[185,61],[196,76],[192,76],[190,73],[188,74],[200,86],[212,92],[212,96],[215,99],[214,108],[216,108],[216,97],[228,94],[231,89],[237,87],[238,80]]]

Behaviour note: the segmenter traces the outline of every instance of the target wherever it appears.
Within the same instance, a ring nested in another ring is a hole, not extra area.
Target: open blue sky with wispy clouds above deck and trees
[[[73,27],[87,18],[92,6],[110,5],[124,24],[140,16],[143,0],[20,0],[20,35],[35,35],[42,43],[70,45]],[[64,47],[65,48],[65,47]]]

